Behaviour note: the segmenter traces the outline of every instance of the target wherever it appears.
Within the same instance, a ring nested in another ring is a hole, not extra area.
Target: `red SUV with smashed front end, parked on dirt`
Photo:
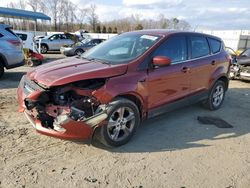
[[[18,88],[19,111],[42,134],[120,146],[140,123],[202,101],[220,108],[230,58],[221,39],[143,30],[107,40],[81,57],[37,67]]]

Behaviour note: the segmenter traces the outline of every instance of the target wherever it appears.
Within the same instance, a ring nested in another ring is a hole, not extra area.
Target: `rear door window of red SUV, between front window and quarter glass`
[[[202,36],[190,36],[191,58],[207,56],[210,53],[207,39]]]

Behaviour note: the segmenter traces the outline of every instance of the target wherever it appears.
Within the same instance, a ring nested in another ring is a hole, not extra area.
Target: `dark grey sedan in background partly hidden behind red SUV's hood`
[[[65,56],[74,56],[74,55],[82,55],[85,51],[89,50],[90,48],[93,48],[97,44],[100,44],[105,39],[85,39],[81,42],[78,42],[76,44],[70,45],[70,46],[63,46],[61,47],[60,51]]]

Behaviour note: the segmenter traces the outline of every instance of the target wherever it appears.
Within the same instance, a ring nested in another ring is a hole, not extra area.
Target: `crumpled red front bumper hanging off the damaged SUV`
[[[87,140],[92,137],[94,132],[94,128],[103,123],[107,118],[107,114],[105,112],[94,115],[85,121],[74,121],[72,119],[68,119],[67,121],[60,124],[60,127],[64,131],[57,131],[52,128],[43,127],[41,121],[36,119],[30,111],[27,110],[25,105],[25,99],[30,98],[32,96],[38,95],[39,91],[34,91],[31,94],[26,95],[24,92],[24,78],[21,80],[18,90],[17,90],[17,99],[19,103],[19,112],[24,113],[29,122],[33,125],[37,132],[52,136],[61,139],[69,139],[69,140]]]

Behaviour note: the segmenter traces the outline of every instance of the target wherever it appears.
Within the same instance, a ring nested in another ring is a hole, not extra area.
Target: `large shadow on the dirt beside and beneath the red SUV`
[[[119,148],[94,146],[118,153],[161,152],[209,147],[215,140],[230,139],[250,133],[250,88],[230,89],[220,110],[209,111],[193,105],[146,120],[133,139]],[[199,123],[198,116],[220,117],[233,128],[218,128]],[[212,142],[211,142],[212,141]]]

